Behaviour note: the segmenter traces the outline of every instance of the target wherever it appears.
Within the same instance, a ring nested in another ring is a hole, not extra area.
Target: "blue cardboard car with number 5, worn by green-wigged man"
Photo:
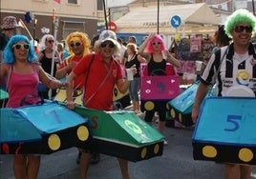
[[[253,97],[205,99],[192,137],[195,160],[255,165]]]

